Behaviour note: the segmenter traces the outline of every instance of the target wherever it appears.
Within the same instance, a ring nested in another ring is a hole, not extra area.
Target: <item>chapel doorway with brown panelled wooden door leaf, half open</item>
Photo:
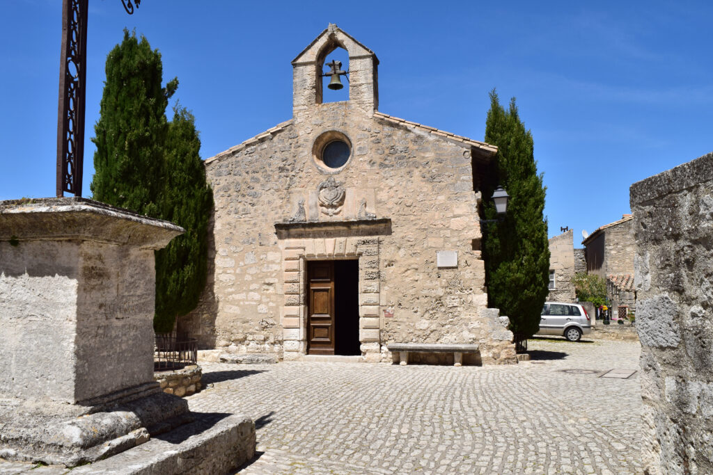
[[[307,353],[361,355],[359,261],[308,261],[307,282]]]

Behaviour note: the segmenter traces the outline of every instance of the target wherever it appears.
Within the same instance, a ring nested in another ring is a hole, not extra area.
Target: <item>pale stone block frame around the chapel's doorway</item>
[[[307,261],[359,260],[359,342],[361,357],[381,358],[379,315],[379,237],[334,237],[280,240],[284,306],[282,357],[300,360],[307,355]]]

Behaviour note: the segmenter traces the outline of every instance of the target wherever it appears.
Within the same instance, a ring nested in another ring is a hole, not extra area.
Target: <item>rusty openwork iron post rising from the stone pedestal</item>
[[[141,0],[135,1],[138,7]],[[121,0],[133,14],[132,0]],[[88,0],[62,1],[62,53],[59,65],[57,196],[82,195],[84,98],[86,93]]]

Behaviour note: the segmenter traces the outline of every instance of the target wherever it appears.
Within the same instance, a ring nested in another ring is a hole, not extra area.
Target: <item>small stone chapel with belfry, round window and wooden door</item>
[[[349,100],[325,103],[336,48]],[[378,66],[330,24],[292,61],[292,119],[205,160],[209,276],[179,328],[199,348],[378,362],[389,343],[478,343],[474,363],[516,362],[480,251],[497,149],[379,112]]]

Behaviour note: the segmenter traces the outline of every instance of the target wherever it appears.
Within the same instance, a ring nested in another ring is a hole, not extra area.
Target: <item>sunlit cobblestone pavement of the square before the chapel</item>
[[[202,363],[212,387],[187,399],[255,419],[245,474],[640,473],[638,372],[622,378],[640,345],[540,339],[530,353],[486,367]]]

